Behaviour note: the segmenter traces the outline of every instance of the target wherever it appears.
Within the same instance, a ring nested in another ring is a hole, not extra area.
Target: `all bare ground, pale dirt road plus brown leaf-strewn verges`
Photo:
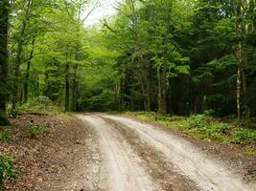
[[[32,137],[31,126],[49,132]],[[19,179],[7,190],[254,191],[256,158],[241,147],[191,138],[155,123],[106,114],[12,119]]]

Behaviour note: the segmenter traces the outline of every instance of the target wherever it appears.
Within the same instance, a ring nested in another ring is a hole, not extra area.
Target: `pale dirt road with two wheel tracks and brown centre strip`
[[[219,159],[150,124],[105,114],[77,117],[98,136],[101,173],[95,171],[102,182],[97,190],[256,190]]]

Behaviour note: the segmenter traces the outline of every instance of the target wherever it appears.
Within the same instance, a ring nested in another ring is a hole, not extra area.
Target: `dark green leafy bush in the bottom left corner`
[[[16,178],[17,169],[13,167],[12,157],[0,153],[0,190],[5,190],[5,180],[15,180]]]

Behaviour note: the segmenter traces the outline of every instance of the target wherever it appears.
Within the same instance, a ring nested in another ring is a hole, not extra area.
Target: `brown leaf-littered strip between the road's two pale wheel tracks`
[[[162,190],[165,191],[196,191],[199,190],[195,182],[189,180],[185,176],[178,174],[174,169],[175,166],[164,158],[164,155],[155,150],[151,145],[142,141],[135,131],[127,128],[123,124],[106,118],[107,123],[114,127],[128,143],[132,146],[133,150],[143,159],[144,164],[151,178],[157,182]]]

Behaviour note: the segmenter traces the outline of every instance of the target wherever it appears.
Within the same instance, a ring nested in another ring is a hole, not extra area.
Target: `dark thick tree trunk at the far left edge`
[[[6,113],[8,96],[8,28],[9,0],[0,2],[0,125],[10,125]]]

